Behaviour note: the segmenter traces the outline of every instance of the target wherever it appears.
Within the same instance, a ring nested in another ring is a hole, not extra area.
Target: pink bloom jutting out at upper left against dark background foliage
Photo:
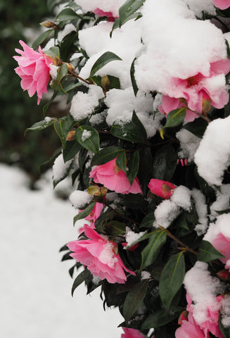
[[[21,87],[27,90],[28,94],[33,96],[37,92],[38,100],[40,103],[43,93],[47,93],[47,85],[49,83],[50,66],[53,60],[46,56],[39,46],[39,51],[34,51],[20,40],[20,45],[23,46],[23,51],[15,49],[21,56],[13,56],[18,62],[18,67],[15,68],[15,73],[21,77]]]

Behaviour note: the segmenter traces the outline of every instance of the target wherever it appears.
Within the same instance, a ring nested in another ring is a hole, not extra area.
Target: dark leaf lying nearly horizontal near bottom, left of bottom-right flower
[[[141,330],[147,330],[151,329],[152,327],[166,325],[167,323],[172,322],[172,320],[178,318],[182,311],[184,311],[184,308],[181,306],[170,308],[170,311],[167,311],[165,308],[155,311],[143,322]]]

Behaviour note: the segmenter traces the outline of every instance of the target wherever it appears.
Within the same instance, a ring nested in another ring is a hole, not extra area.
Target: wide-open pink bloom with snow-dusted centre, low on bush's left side
[[[110,242],[107,236],[98,234],[89,225],[84,225],[84,234],[89,239],[79,239],[68,243],[70,253],[77,262],[86,265],[94,276],[101,280],[108,280],[109,283],[124,284],[127,273],[135,273],[127,269],[117,253],[117,244]]]

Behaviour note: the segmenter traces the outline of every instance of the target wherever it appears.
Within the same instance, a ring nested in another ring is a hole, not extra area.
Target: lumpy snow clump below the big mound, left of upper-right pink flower
[[[153,115],[153,98],[150,94],[138,92],[135,96],[132,87],[124,90],[111,89],[106,95],[105,103],[108,106],[108,125],[128,123],[135,111],[146,129],[147,137],[153,137],[161,127],[160,121],[164,115]]]

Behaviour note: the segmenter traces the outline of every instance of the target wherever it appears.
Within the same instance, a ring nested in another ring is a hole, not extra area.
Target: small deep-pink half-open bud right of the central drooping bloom
[[[152,178],[148,183],[148,188],[151,190],[152,194],[162,197],[162,199],[170,199],[176,186],[170,182]]]

